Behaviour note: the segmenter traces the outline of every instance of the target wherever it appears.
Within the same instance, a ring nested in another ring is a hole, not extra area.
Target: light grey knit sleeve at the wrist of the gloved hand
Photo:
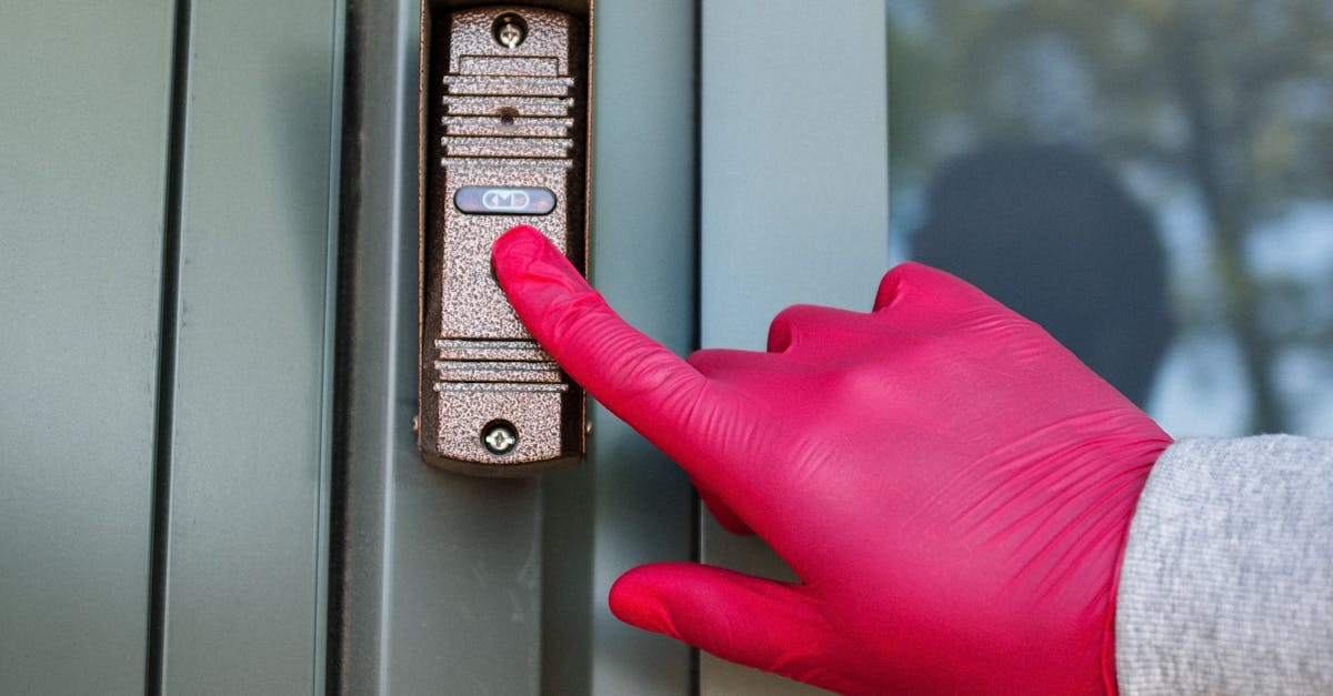
[[[1184,440],[1129,527],[1121,692],[1333,693],[1333,441]]]

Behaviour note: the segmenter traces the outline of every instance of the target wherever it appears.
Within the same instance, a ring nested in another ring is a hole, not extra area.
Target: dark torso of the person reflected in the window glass
[[[990,145],[945,164],[926,191],[917,260],[1041,324],[1136,404],[1173,332],[1148,212],[1093,155]]]

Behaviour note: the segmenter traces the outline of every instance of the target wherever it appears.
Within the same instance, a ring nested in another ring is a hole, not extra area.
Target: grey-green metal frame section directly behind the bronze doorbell
[[[694,331],[692,3],[597,3],[592,269],[677,351]],[[416,3],[353,5],[344,183],[336,635],[344,693],[688,693],[689,651],[605,609],[689,555],[688,483],[593,407],[589,459],[531,480],[421,463]]]

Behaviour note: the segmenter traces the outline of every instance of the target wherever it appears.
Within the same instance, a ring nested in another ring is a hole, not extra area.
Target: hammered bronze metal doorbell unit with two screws
[[[592,3],[549,4],[559,9],[427,0],[421,13],[417,443],[427,463],[464,473],[524,476],[584,451],[583,391],[532,340],[491,269],[492,243],[519,224],[587,267]],[[512,47],[501,43],[513,43],[500,31],[508,16],[523,29]],[[500,204],[460,208],[463,188],[469,201]],[[555,204],[517,209],[516,191],[551,192]],[[505,433],[487,441],[496,423]]]

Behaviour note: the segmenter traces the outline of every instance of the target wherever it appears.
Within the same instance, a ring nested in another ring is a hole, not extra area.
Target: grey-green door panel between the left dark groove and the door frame
[[[323,691],[343,13],[192,8],[165,692]]]

